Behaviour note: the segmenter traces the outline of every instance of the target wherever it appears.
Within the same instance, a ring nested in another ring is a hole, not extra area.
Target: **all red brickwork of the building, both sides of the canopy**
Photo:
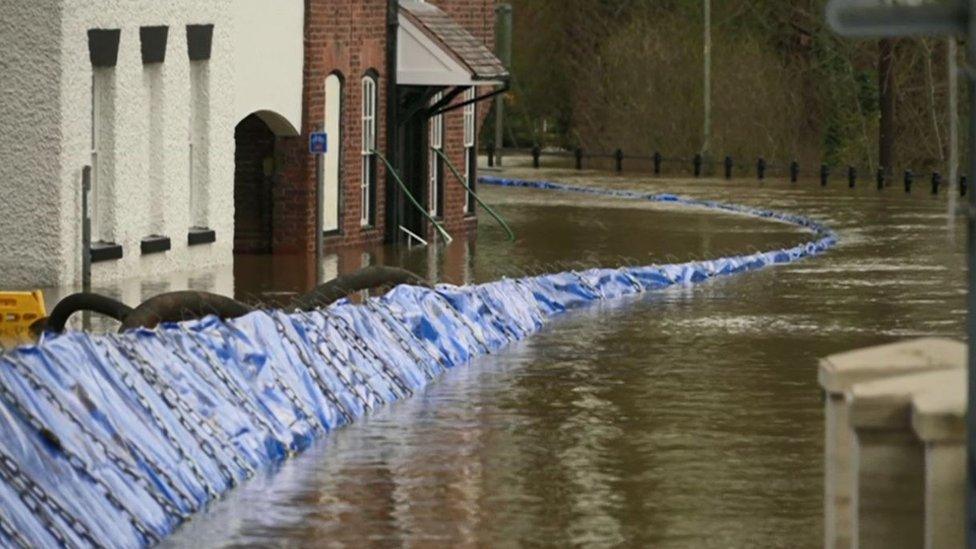
[[[475,36],[494,43],[493,0],[439,0],[434,2]],[[368,70],[377,80],[376,144],[386,148],[386,0],[306,0],[305,89],[302,135],[278,140],[277,180],[274,188],[275,253],[311,254],[315,251],[316,159],[307,153],[308,134],[323,124],[325,79],[338,73],[344,81],[342,136],[330,148],[342,147],[340,160],[340,233],[326,238],[328,248],[375,244],[384,237],[386,172],[377,162],[376,224],[360,227],[361,79]],[[458,100],[460,101],[460,100]],[[487,106],[478,105],[479,122]],[[479,124],[480,125],[480,124]],[[463,112],[445,116],[445,153],[464,171]],[[445,176],[444,223],[452,234],[463,234],[477,220],[465,215],[464,189],[450,174]]]

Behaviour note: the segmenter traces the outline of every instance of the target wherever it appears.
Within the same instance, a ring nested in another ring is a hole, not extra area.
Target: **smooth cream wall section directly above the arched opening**
[[[234,115],[262,117],[278,135],[298,135],[305,69],[304,0],[234,0]],[[282,122],[283,117],[288,124]]]

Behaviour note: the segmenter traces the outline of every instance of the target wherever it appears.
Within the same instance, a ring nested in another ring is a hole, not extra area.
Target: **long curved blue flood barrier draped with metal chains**
[[[483,179],[676,202],[793,223],[813,239],[683,264],[476,286],[401,285],[356,305],[255,311],[122,334],[66,333],[0,356],[0,545],[152,545],[256,471],[550,317],[602,299],[788,263],[836,236],[799,216],[671,195]]]

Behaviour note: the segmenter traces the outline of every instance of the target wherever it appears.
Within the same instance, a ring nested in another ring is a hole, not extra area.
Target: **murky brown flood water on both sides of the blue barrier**
[[[909,336],[963,335],[965,235],[962,223],[948,228],[945,194],[506,175],[794,212],[825,222],[841,241],[796,264],[564,315],[332,433],[232,492],[170,545],[820,546],[817,359]],[[483,216],[470,241],[345,251],[326,270],[393,263],[464,283],[809,238],[694,209],[525,189],[482,194],[518,242]],[[307,271],[239,258],[235,293],[299,291]]]

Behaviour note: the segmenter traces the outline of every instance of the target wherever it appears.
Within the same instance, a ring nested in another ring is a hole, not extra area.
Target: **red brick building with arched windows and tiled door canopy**
[[[235,251],[311,256],[318,230],[326,250],[434,238],[408,192],[452,237],[473,230],[474,201],[431,148],[474,188],[484,99],[508,79],[491,54],[494,7],[306,0],[300,135],[275,137],[256,116],[237,127]],[[329,151],[311,154],[322,131]]]

